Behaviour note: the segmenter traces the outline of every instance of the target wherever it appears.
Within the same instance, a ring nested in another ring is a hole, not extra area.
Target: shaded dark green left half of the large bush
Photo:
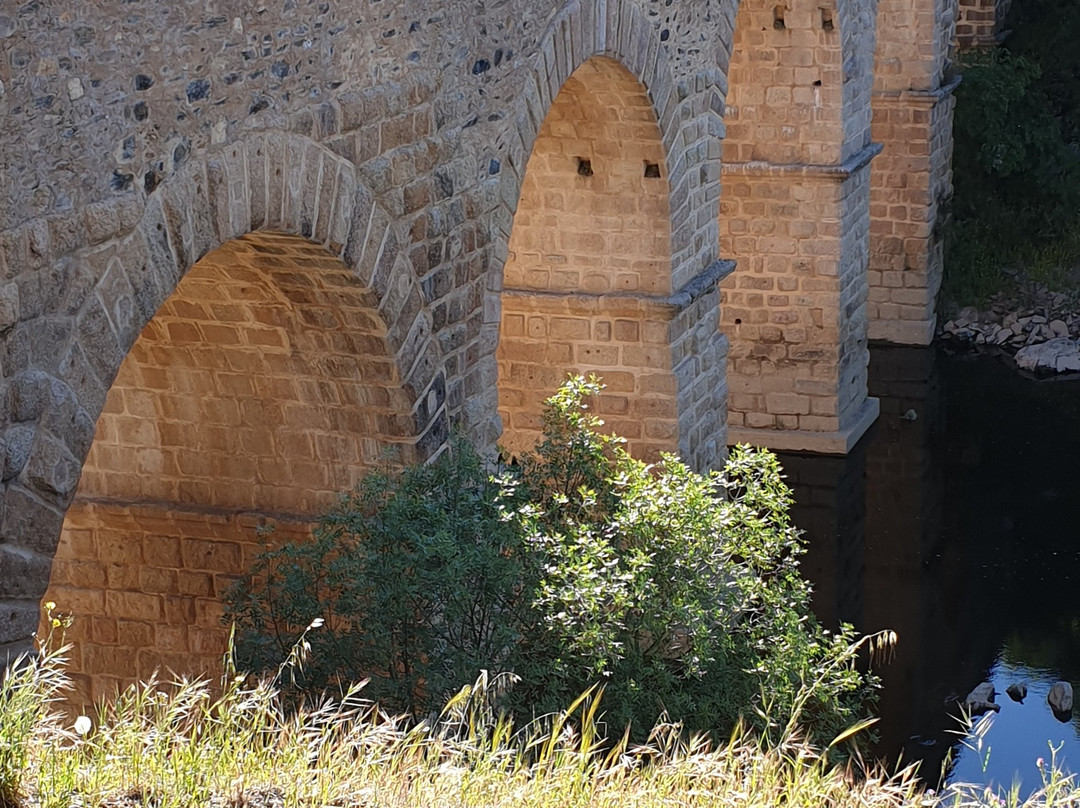
[[[314,540],[267,547],[226,597],[237,662],[269,671],[314,619],[299,687],[370,677],[367,692],[421,715],[515,638],[516,535],[465,444],[426,466],[380,471],[343,496]]]

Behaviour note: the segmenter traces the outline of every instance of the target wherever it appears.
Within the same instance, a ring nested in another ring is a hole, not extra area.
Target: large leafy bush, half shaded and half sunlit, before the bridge
[[[310,544],[260,555],[228,604],[241,664],[270,668],[322,617],[301,684],[372,676],[414,715],[496,668],[521,677],[504,701],[521,717],[600,684],[620,729],[664,713],[721,732],[800,713],[826,741],[850,726],[873,682],[850,632],[810,616],[775,458],[647,466],[600,433],[599,389],[569,381],[536,453],[498,479],[458,444],[365,481]]]

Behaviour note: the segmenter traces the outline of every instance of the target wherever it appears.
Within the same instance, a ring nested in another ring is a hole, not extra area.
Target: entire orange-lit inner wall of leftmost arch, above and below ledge
[[[369,295],[323,247],[246,235],[200,260],[109,389],[45,601],[75,618],[90,704],[156,666],[216,676],[221,596],[368,468],[414,459],[410,402]]]

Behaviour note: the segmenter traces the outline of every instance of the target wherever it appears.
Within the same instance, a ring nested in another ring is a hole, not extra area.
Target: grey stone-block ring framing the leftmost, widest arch
[[[253,135],[192,154],[126,223],[73,240],[92,246],[64,254],[54,244],[42,271],[68,279],[63,305],[5,338],[0,652],[28,647],[65,512],[124,358],[192,266],[262,232],[310,244],[347,270],[382,324],[405,443],[420,458],[443,445],[445,381],[430,314],[394,223],[352,164],[298,135]]]

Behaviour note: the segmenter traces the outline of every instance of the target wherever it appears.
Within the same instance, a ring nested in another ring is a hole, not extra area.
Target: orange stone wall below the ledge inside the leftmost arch
[[[229,635],[221,596],[251,565],[267,522],[175,506],[72,503],[42,598],[75,618],[66,633],[69,701],[92,706],[156,670],[216,678]],[[275,541],[310,533],[307,522],[280,514],[272,524]]]

